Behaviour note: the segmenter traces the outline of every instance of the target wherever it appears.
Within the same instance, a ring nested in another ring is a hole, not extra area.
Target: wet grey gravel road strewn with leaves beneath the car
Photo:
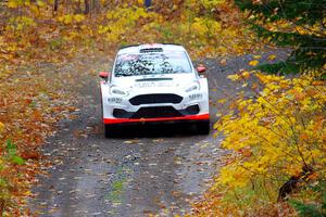
[[[215,102],[234,98],[242,88],[227,75],[250,60],[235,58],[224,66],[221,60],[196,61],[209,68],[212,125]],[[109,66],[109,59],[88,56],[57,69],[65,91],[75,95],[77,118],[59,123],[60,130],[45,144],[45,162],[51,166],[34,188],[30,209],[40,216],[184,215],[222,163],[222,138],[213,138],[213,130],[198,136],[189,126],[158,125],[126,128],[122,138],[105,139],[97,72]]]

